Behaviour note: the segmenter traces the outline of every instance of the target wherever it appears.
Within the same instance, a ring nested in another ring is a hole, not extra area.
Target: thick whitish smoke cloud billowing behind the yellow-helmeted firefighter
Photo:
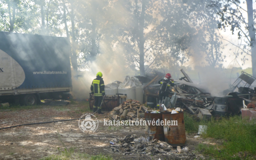
[[[101,41],[101,54],[96,57],[96,60],[91,63],[91,71],[85,71],[83,77],[75,78],[72,76],[73,91],[72,96],[77,99],[88,99],[90,86],[96,74],[102,72],[105,85],[114,81],[123,82],[127,75],[134,75],[134,71],[125,66],[125,57],[122,47],[115,51],[109,51],[107,43]]]

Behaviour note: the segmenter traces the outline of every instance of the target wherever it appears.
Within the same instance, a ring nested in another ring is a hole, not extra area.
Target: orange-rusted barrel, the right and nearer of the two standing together
[[[184,146],[186,142],[186,131],[183,112],[162,113],[163,131],[165,134],[165,142],[171,146]],[[170,121],[168,123],[168,121]]]

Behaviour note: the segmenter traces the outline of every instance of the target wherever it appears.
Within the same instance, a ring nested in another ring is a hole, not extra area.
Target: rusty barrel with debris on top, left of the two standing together
[[[149,112],[149,111],[148,111]],[[165,140],[165,134],[163,133],[163,126],[160,125],[162,121],[162,113],[145,113],[145,120],[147,125],[145,126],[145,133],[146,135],[150,136],[151,139],[157,139],[160,141]],[[152,125],[152,121],[157,122],[159,125],[154,124]],[[151,121],[150,125],[148,121]]]

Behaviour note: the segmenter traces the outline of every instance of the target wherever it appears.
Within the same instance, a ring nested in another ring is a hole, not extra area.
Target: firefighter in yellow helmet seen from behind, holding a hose
[[[95,113],[100,107],[103,96],[105,96],[105,85],[101,72],[97,73],[96,78],[93,80],[93,83],[91,83],[91,93],[94,94],[95,102],[93,106],[93,113]],[[98,113],[103,114],[101,109],[98,110]]]

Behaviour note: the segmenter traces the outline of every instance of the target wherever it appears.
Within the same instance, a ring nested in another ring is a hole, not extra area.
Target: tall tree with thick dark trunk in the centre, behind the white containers
[[[148,68],[161,64],[164,46],[160,43],[156,30],[158,9],[161,1],[135,0],[119,1],[126,9],[126,21],[120,30],[118,44],[124,47],[127,63],[132,68],[140,70],[145,75],[145,63]]]

